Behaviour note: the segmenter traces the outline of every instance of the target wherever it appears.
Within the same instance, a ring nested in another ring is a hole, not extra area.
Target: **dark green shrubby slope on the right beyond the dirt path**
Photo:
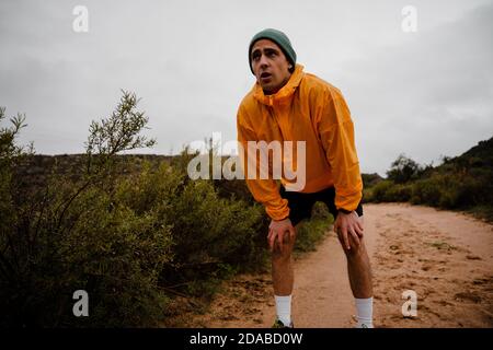
[[[366,201],[410,201],[467,210],[493,221],[493,138],[462,155],[444,156],[435,167],[400,155],[387,174],[388,179],[366,189]]]

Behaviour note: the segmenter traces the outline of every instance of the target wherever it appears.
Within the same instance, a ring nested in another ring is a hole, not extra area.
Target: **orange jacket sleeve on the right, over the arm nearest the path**
[[[318,131],[334,177],[335,207],[355,210],[363,197],[363,182],[349,108],[337,90],[328,93],[323,105]]]

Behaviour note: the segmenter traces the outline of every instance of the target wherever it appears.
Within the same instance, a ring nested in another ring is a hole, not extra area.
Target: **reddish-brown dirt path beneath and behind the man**
[[[493,327],[493,225],[465,214],[410,205],[365,206],[375,276],[377,327]],[[402,292],[417,316],[402,316]],[[352,327],[355,313],[344,253],[333,233],[295,262],[296,327]],[[270,275],[226,283],[196,327],[270,327]]]

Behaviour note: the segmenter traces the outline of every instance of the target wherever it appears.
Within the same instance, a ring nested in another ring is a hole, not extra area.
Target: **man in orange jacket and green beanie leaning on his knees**
[[[372,287],[364,243],[363,183],[353,121],[344,97],[336,88],[303,72],[283,32],[271,28],[257,33],[250,43],[249,63],[256,83],[241,102],[237,118],[245,174],[250,164],[246,160],[257,156],[256,152],[249,153],[249,141],[306,142],[306,183],[301,190],[286,190],[290,179],[284,175],[280,188],[271,177],[245,177],[253,197],[272,219],[267,241],[277,313],[274,327],[293,327],[291,252],[296,229],[310,217],[313,203],[323,201],[335,218],[334,231],[347,257],[356,327],[371,328]],[[285,151],[283,162],[289,154]]]

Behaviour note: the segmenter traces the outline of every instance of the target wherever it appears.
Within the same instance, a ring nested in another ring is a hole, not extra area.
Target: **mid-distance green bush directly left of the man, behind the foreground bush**
[[[193,283],[196,294],[198,280],[206,283],[221,271],[248,270],[265,259],[263,209],[220,198],[210,180],[192,182],[167,163],[152,171],[148,163],[118,194],[136,212],[151,212],[170,225],[173,264],[161,273],[165,285]]]

